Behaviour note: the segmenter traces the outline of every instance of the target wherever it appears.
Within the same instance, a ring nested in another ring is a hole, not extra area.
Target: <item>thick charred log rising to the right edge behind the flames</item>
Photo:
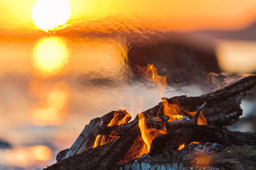
[[[256,75],[244,75],[240,80],[233,82],[229,86],[209,94],[196,97],[177,96],[166,100],[170,104],[178,100],[181,104],[181,111],[184,108],[190,112],[197,111],[199,106],[206,101],[207,105],[202,109],[202,112],[207,123],[215,126],[230,126],[238,121],[242,115],[241,100],[250,95],[250,90],[255,84]],[[157,114],[164,115],[162,103],[142,113],[144,116],[150,117],[155,117]],[[182,113],[192,118],[186,112]],[[139,117],[135,118],[135,120],[138,119]]]

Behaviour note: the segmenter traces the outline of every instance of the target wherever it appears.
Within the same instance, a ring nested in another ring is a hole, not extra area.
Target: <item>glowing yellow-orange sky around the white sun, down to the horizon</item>
[[[0,30],[32,31],[31,8],[35,2],[36,0],[2,0]],[[97,20],[105,24],[113,21],[118,24],[125,20],[133,26],[192,31],[241,29],[256,19],[254,0],[70,0],[70,4],[70,23]]]

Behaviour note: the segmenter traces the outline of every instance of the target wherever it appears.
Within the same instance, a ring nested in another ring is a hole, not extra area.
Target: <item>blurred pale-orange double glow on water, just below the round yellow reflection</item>
[[[35,87],[31,85],[31,88],[40,87],[39,84],[36,85]],[[59,125],[64,119],[65,108],[69,100],[69,90],[66,83],[58,82],[53,85],[51,90],[44,89],[38,95],[42,99],[35,104],[32,110],[33,123],[37,126]]]

